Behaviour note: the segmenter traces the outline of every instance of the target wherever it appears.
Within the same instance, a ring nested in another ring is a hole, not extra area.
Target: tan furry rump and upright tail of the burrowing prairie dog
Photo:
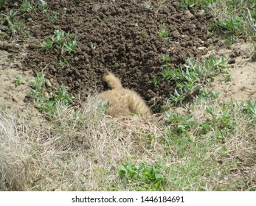
[[[122,87],[120,79],[112,73],[105,74],[103,79],[108,83],[111,90],[100,93],[100,98],[110,104],[108,115],[113,117],[129,116],[130,113],[137,113],[143,116],[150,116],[151,110],[145,104],[141,96],[133,90]]]

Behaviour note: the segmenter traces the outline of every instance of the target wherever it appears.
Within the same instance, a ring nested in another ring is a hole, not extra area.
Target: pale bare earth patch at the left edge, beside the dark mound
[[[24,43],[0,42],[0,107],[8,113],[38,113],[31,102],[26,101],[30,92],[30,82],[33,74],[31,70],[22,71],[21,62],[27,55]],[[21,85],[15,84],[15,79],[22,76]]]

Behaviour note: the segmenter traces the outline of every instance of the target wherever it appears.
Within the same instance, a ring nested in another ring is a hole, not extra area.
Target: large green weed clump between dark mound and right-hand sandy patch
[[[211,82],[212,77],[220,71],[226,71],[228,65],[224,58],[216,60],[215,57],[211,56],[203,63],[188,59],[184,65],[180,65],[178,68],[173,69],[166,65],[163,65],[162,68],[164,69],[163,80],[176,82],[176,88],[170,96],[170,102],[177,104],[197,94],[201,85]]]

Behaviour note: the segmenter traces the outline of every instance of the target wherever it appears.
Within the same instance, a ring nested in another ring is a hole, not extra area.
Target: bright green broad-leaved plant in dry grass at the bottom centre
[[[140,190],[163,190],[165,186],[165,166],[146,166],[141,163],[134,166],[131,163],[122,163],[119,177],[127,182],[133,182]]]

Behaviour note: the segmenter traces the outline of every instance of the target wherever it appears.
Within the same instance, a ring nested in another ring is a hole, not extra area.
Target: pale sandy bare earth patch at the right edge
[[[252,55],[252,43],[239,42],[218,51],[210,51],[229,60],[231,79],[225,80],[225,75],[218,74],[210,83],[210,88],[220,91],[220,99],[226,102],[232,99],[241,103],[246,100],[256,100],[256,63]]]

